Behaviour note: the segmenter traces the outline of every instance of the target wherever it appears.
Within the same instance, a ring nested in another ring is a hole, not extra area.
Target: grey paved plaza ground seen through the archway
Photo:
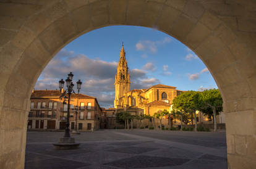
[[[72,135],[79,149],[54,150],[63,135],[28,131],[25,168],[228,168],[225,133],[100,130]]]

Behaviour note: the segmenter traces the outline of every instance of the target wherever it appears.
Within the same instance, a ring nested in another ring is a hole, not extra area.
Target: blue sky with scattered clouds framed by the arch
[[[56,89],[58,80],[72,71],[75,80],[83,81],[82,93],[97,97],[102,107],[113,106],[114,74],[122,41],[132,89],[158,83],[181,90],[217,88],[202,60],[173,37],[151,28],[111,26],[67,44],[41,73],[35,89]]]

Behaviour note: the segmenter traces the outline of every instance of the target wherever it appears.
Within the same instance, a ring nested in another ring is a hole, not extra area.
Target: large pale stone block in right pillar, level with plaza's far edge
[[[226,133],[252,136],[255,134],[254,111],[226,113]]]

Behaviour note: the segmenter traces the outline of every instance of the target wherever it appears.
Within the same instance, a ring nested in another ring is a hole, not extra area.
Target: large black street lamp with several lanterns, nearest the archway
[[[67,97],[67,122],[66,122],[66,128],[65,128],[65,134],[64,134],[64,138],[59,138],[59,142],[56,143],[56,144],[53,144],[54,147],[56,149],[75,149],[79,146],[79,143],[75,143],[75,138],[70,138],[70,130],[69,130],[69,116],[70,116],[70,113],[69,113],[69,109],[70,109],[70,95],[72,93],[74,94],[79,94],[79,91],[81,89],[81,86],[82,86],[82,81],[77,81],[77,93],[75,93],[74,91],[74,83],[73,83],[73,74],[72,72],[70,72],[68,75],[67,75],[67,79],[65,80],[66,81],[66,88],[64,90],[64,92],[61,94],[60,98],[66,97],[66,95],[68,95]],[[62,89],[64,89],[64,83],[65,81],[63,79],[61,79],[59,81],[59,90],[62,91]],[[65,102],[65,101],[64,101]]]

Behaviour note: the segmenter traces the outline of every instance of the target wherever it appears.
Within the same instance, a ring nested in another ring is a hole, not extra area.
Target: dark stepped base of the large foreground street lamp
[[[70,150],[78,149],[80,143],[75,142],[75,138],[59,138],[59,142],[54,143],[54,149],[57,150]]]

